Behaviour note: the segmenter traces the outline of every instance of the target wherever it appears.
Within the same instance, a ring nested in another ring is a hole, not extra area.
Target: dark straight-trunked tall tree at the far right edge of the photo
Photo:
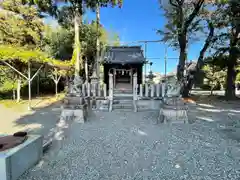
[[[235,80],[237,60],[240,57],[240,1],[223,0],[217,3],[219,34],[214,46],[216,57],[227,57],[227,76],[225,97],[235,98]]]

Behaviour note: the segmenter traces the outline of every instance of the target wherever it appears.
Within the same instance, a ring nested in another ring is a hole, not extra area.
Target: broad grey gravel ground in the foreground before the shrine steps
[[[155,124],[156,112],[95,112],[69,123],[19,180],[240,179],[240,146],[222,122]]]

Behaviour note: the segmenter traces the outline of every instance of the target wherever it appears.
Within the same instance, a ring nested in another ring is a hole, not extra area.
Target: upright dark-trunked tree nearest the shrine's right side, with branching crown
[[[159,1],[161,3],[161,1]],[[204,5],[204,0],[196,0],[189,3],[187,0],[169,0],[170,7],[165,8],[167,12],[168,23],[166,29],[170,30],[166,33],[165,38],[169,38],[170,33],[175,31],[174,42],[175,47],[179,47],[179,62],[177,67],[177,78],[183,80],[184,67],[186,62],[186,49],[188,45],[189,31],[191,28],[198,27],[198,21],[194,21],[199,15],[201,8]],[[171,35],[172,36],[172,35]]]

